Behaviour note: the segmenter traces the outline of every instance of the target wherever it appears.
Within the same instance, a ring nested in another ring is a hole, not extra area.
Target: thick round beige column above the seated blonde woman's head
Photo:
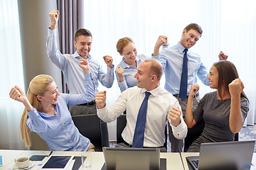
[[[61,92],[61,73],[46,54],[46,40],[50,18],[48,13],[57,8],[53,0],[18,0],[18,16],[21,32],[21,52],[25,91],[38,74],[53,77]]]

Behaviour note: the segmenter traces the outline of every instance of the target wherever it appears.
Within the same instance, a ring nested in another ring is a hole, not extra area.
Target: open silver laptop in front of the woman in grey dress
[[[254,147],[255,140],[202,143],[199,157],[186,157],[186,160],[199,170],[250,169]]]

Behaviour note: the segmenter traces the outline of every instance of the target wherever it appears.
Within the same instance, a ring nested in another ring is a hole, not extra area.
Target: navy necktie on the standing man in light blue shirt
[[[181,86],[178,96],[181,97],[181,100],[183,101],[184,98],[186,98],[187,95],[187,89],[188,89],[188,49],[183,50],[184,56],[183,56],[183,65],[182,65],[182,73],[181,73]]]

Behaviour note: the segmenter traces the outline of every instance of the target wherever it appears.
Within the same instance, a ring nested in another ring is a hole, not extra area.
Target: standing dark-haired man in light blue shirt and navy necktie
[[[184,28],[181,36],[181,40],[173,47],[164,48],[159,53],[159,47],[161,45],[168,45],[166,36],[160,35],[158,42],[156,42],[153,58],[156,58],[161,62],[164,68],[164,73],[166,77],[165,89],[173,94],[181,105],[183,111],[183,117],[186,113],[186,104],[188,98],[181,100],[179,96],[180,84],[181,84],[181,73],[183,67],[183,55],[184,49],[189,49],[196,44],[196,42],[201,38],[203,30],[201,26],[196,23],[191,23],[186,28]],[[207,79],[208,71],[201,61],[201,57],[188,50],[188,86],[187,86],[187,96],[191,89],[191,85],[198,84],[197,77],[201,79],[203,84],[209,86],[210,83]],[[219,59],[227,60],[228,55],[220,52]],[[198,94],[193,98],[193,110],[196,109],[198,101],[200,100]],[[170,127],[170,126],[169,126]],[[170,130],[169,130],[170,131]],[[189,132],[188,132],[189,133]],[[182,152],[183,140],[176,140],[175,137],[170,135],[171,141],[171,152]],[[186,139],[185,139],[186,142]]]

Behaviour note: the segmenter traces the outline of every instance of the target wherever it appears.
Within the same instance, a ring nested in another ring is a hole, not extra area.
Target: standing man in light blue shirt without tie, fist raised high
[[[78,61],[82,58],[87,59],[92,73],[92,79],[95,84],[95,92],[97,92],[98,80],[103,86],[110,88],[114,82],[114,65],[112,64],[112,57],[105,56],[104,60],[107,64],[107,73],[102,69],[102,66],[89,55],[92,45],[92,35],[89,30],[80,29],[75,33],[74,45],[77,48],[74,54],[61,54],[57,47],[56,40],[56,25],[58,23],[58,11],[49,13],[51,25],[48,29],[48,39],[46,43],[46,50],[50,60],[62,70],[65,82],[68,84],[70,94],[85,93],[85,86],[82,86],[84,77],[78,67]],[[96,113],[95,101],[83,103],[79,106],[70,107],[72,115],[80,115],[86,113]]]

